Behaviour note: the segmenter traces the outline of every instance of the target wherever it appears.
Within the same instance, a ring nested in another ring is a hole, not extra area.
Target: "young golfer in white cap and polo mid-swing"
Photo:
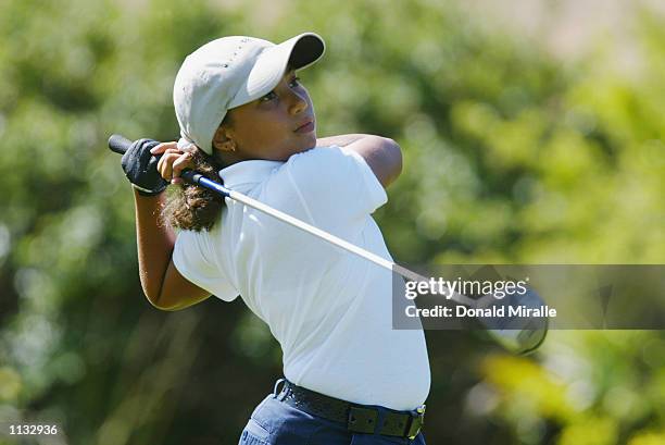
[[[425,336],[392,329],[390,271],[179,178],[198,170],[391,260],[372,213],[387,202],[401,150],[374,135],[316,138],[296,73],[324,49],[313,33],[279,45],[233,36],[185,59],[174,85],[180,139],[137,140],[123,156],[141,285],[163,310],[240,296],[279,342],[285,379],[240,444],[424,444]],[[178,190],[167,197],[168,183]]]

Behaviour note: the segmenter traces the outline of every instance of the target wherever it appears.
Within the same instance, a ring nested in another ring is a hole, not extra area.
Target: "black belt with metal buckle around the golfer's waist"
[[[275,394],[277,394],[276,390],[281,380],[275,385]],[[381,424],[378,425],[378,409],[315,393],[297,386],[286,379],[284,379],[284,387],[275,397],[309,415],[342,423],[348,431],[353,433],[374,434],[376,432],[413,440],[425,424],[425,405],[412,412],[385,408],[386,415]]]

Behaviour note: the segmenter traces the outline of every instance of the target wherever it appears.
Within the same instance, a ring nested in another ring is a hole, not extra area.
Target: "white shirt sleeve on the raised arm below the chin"
[[[317,227],[335,231],[364,221],[388,201],[367,162],[351,149],[316,147],[292,156],[284,166],[303,217]]]

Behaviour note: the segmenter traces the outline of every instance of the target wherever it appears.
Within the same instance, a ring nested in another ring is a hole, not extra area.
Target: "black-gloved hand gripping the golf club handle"
[[[155,196],[164,191],[168,183],[158,172],[159,158],[150,149],[160,143],[153,139],[136,140],[123,154],[125,175],[142,196]]]

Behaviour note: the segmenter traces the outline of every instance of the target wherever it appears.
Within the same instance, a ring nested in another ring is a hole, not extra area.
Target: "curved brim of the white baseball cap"
[[[303,33],[266,48],[228,108],[240,107],[267,95],[279,84],[287,65],[290,64],[293,70],[303,70],[321,59],[325,49],[323,38],[314,33]]]

